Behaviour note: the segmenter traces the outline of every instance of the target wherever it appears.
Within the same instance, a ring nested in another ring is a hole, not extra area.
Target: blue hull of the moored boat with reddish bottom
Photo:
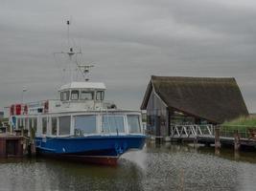
[[[35,138],[39,154],[59,158],[118,159],[130,149],[142,149],[144,135]]]

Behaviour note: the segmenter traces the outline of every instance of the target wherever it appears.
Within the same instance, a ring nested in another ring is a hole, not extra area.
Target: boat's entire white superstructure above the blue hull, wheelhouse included
[[[105,102],[105,84],[95,82],[68,83],[58,90],[58,99],[10,108],[13,129],[33,128],[42,137],[141,134],[140,116]]]

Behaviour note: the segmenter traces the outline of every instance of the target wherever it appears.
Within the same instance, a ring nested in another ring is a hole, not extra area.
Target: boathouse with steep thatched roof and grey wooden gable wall
[[[233,77],[151,76],[142,110],[147,128],[158,137],[170,136],[171,124],[220,124],[248,116]]]

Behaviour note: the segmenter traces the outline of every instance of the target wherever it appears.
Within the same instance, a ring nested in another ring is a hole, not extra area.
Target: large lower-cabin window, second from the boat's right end
[[[104,116],[103,131],[105,133],[124,133],[124,117]]]

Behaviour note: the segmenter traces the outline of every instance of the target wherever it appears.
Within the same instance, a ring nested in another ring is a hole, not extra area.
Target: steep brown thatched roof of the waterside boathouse
[[[233,77],[151,76],[141,109],[147,108],[151,90],[171,109],[211,122],[248,116],[239,86]]]

